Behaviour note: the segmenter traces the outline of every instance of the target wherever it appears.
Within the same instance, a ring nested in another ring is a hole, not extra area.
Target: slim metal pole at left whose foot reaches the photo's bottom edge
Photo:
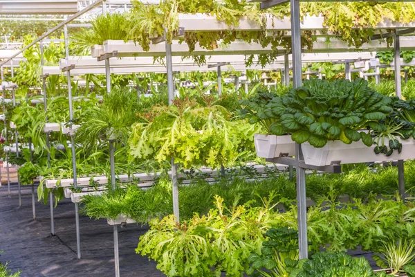
[[[105,59],[105,80],[107,82],[107,93],[111,93],[111,71],[109,68],[109,59]],[[116,163],[114,161],[114,138],[109,138],[109,164],[111,171],[111,188],[116,189]],[[120,277],[120,254],[118,251],[118,225],[113,225],[114,238],[114,267],[116,277]]]

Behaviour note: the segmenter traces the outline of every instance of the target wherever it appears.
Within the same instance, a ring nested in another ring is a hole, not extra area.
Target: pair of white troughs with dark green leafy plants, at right
[[[291,157],[302,143],[313,166],[415,158],[414,100],[383,96],[362,79],[306,80],[284,96],[259,93],[242,104],[242,118],[268,132],[255,136],[259,157]]]

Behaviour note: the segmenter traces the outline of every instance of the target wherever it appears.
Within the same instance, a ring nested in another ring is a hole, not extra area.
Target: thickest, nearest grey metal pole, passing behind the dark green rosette
[[[301,63],[301,36],[299,18],[299,0],[290,0],[291,3],[291,42],[293,55],[293,84],[294,87],[302,85],[302,63]],[[299,258],[308,258],[307,242],[307,208],[306,208],[306,174],[300,168],[299,161],[303,159],[301,145],[295,143],[295,160],[297,175],[297,209],[298,209],[298,238]]]

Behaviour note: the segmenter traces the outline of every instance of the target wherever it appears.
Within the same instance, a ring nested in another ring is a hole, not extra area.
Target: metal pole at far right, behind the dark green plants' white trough
[[[394,57],[394,67],[395,67],[395,91],[396,96],[398,98],[402,98],[402,84],[400,80],[400,44],[399,44],[399,36],[395,35],[394,37],[394,50],[395,50],[395,57]],[[404,167],[403,167],[403,160],[398,161],[398,188],[399,194],[402,199],[405,199],[405,175],[404,175]]]

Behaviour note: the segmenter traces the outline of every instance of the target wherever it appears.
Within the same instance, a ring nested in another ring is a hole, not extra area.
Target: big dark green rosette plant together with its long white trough
[[[391,98],[370,89],[365,80],[314,79],[274,97],[261,113],[257,109],[257,117],[274,120],[273,134],[291,134],[293,141],[302,144],[305,162],[313,166],[410,159],[412,151],[400,151],[403,125],[389,115],[392,106]],[[374,141],[376,136],[389,138],[392,147],[385,151],[385,140]],[[382,152],[376,151],[379,143]],[[414,145],[414,141],[405,144]]]

